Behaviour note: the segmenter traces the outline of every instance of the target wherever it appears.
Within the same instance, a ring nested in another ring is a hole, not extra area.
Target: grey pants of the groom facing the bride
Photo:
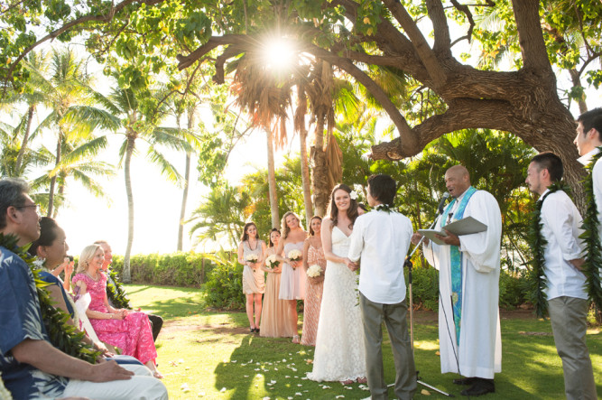
[[[389,332],[395,363],[395,395],[410,400],[416,391],[416,369],[412,354],[412,342],[408,333],[405,302],[382,304],[371,302],[359,293],[359,306],[364,322],[364,343],[366,347],[366,372],[372,400],[386,399],[387,386],[384,382],[383,367],[383,321]]]

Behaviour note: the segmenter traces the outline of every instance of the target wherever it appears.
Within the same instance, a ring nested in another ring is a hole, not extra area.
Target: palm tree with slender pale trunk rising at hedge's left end
[[[149,89],[114,88],[108,97],[98,93],[94,95],[95,100],[102,104],[111,116],[120,120],[117,134],[124,135],[125,139],[119,150],[119,166],[124,167],[125,193],[127,196],[127,246],[125,247],[123,280],[131,281],[130,256],[134,243],[134,193],[132,191],[131,164],[132,157],[136,153],[136,144],[143,141],[147,144],[146,158],[161,169],[162,175],[175,183],[181,183],[182,177],[172,163],[162,153],[164,149],[181,152],[191,152],[192,146],[197,140],[196,135],[179,128],[158,126],[159,122],[166,116],[166,104],[153,110],[146,111],[143,102],[149,98],[161,98],[162,94]]]

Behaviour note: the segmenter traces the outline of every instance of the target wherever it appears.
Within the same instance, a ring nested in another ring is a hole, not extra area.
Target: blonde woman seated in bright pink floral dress
[[[74,291],[78,298],[90,293],[91,302],[86,315],[97,333],[98,339],[122,349],[123,354],[138,358],[161,378],[155,365],[157,350],[154,348],[153,331],[144,312],[116,310],[107,301],[107,275],[101,267],[105,252],[100,245],[85,247],[79,256],[77,273],[73,277]]]

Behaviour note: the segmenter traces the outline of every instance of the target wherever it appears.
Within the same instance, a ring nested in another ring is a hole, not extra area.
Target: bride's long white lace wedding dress
[[[332,229],[332,252],[347,256],[349,237]],[[357,302],[357,274],[347,265],[327,261],[313,370],[316,381],[344,381],[366,377],[364,330]]]

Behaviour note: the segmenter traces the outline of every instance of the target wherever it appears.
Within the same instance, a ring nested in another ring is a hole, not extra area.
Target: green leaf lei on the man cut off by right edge
[[[602,250],[600,249],[600,234],[598,231],[599,220],[597,219],[597,206],[594,198],[594,165],[602,157],[602,146],[598,147],[599,153],[592,157],[586,169],[588,176],[581,181],[586,194],[588,208],[583,216],[583,233],[579,238],[585,242],[585,263],[582,266],[583,274],[587,278],[589,300],[594,302],[598,310],[602,310],[602,286],[600,286],[600,267],[602,267]]]

